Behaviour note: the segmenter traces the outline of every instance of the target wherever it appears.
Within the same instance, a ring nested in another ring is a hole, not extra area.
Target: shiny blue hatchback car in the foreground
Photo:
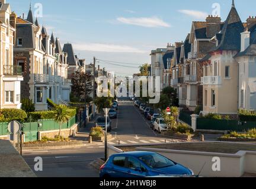
[[[157,177],[194,175],[193,171],[154,152],[114,154],[100,168],[101,178]]]

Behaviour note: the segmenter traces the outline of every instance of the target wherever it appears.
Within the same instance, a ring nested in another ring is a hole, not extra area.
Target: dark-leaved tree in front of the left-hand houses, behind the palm
[[[86,80],[86,94],[85,94],[85,80]],[[92,75],[80,71],[76,71],[72,75],[72,92],[77,97],[79,102],[88,99],[88,95],[92,92]],[[75,99],[75,98],[73,98]]]

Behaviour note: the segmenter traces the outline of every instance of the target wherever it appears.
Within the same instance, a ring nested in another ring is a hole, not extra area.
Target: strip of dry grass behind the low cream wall
[[[224,154],[236,154],[238,151],[256,151],[256,144],[235,144],[225,142],[201,142],[201,143],[184,143],[184,144],[164,144],[152,146],[125,146],[118,147],[123,151],[136,151],[137,147],[174,149],[181,151],[199,151],[199,152],[217,152]]]

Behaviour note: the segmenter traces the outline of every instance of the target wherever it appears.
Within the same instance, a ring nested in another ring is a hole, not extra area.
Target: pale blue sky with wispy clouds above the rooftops
[[[30,2],[49,35],[53,32],[62,45],[72,43],[87,64],[95,56],[101,67],[124,76],[151,63],[151,50],[184,41],[192,21],[205,21],[209,14],[225,21],[232,4],[232,0],[7,0],[11,11],[21,17],[24,13],[24,18]],[[243,22],[256,16],[255,0],[235,0],[235,5]]]

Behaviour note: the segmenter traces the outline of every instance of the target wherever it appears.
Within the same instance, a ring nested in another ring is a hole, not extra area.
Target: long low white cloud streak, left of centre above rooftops
[[[97,51],[97,52],[108,52],[108,53],[148,53],[139,48],[130,47],[127,45],[116,45],[116,44],[101,44],[101,43],[74,43],[73,47],[79,51]]]

